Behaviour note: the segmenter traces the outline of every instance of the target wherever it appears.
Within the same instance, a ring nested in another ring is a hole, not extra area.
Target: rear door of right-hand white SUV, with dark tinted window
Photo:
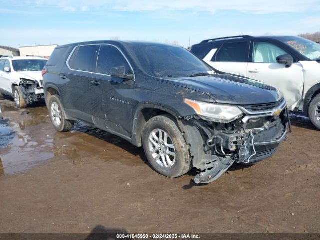
[[[212,49],[204,61],[217,70],[246,76],[249,57],[249,41],[224,43],[219,49]]]

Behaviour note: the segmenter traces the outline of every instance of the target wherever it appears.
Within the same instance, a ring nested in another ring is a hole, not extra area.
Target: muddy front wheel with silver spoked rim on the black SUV
[[[153,140],[153,143],[150,139]],[[169,115],[155,116],[146,122],[142,144],[149,163],[158,173],[174,178],[191,169],[188,145],[176,121]],[[172,154],[174,152],[175,156]]]

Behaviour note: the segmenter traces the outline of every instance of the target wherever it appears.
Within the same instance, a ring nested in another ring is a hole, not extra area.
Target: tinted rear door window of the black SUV
[[[92,72],[95,68],[97,49],[97,45],[78,46],[69,60],[69,66],[75,70]]]

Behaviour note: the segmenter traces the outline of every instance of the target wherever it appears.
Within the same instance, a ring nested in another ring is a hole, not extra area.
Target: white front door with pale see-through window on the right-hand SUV
[[[252,61],[248,63],[247,77],[276,87],[288,106],[295,107],[303,92],[302,65],[297,61],[290,67],[277,63],[277,56],[289,53],[275,43],[256,40],[250,52]]]

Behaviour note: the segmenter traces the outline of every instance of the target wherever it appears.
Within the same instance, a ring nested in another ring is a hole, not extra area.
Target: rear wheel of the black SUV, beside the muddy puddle
[[[64,109],[58,95],[53,95],[50,97],[48,110],[55,130],[59,132],[65,132],[72,129],[74,122],[65,119]]]

